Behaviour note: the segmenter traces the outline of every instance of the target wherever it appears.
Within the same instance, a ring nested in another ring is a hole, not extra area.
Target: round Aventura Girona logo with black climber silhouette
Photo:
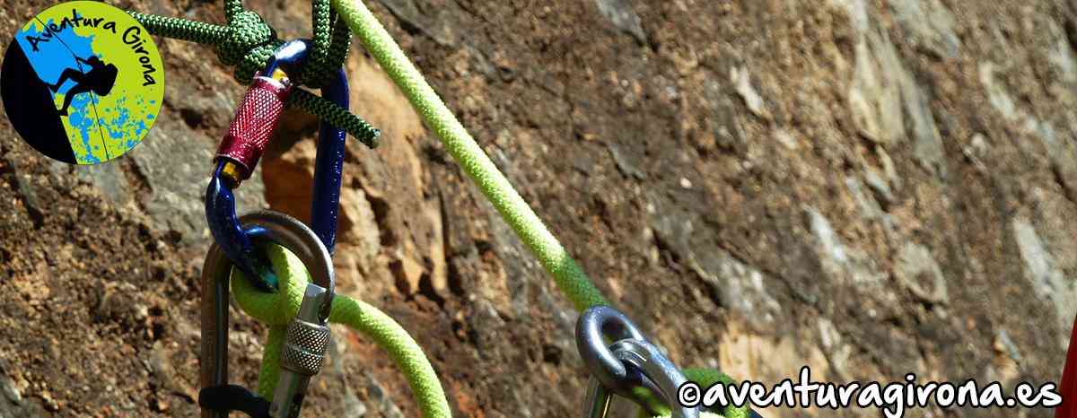
[[[8,119],[36,150],[100,164],[138,145],[165,95],[157,45],[135,18],[97,1],[48,8],[15,33],[0,70]]]

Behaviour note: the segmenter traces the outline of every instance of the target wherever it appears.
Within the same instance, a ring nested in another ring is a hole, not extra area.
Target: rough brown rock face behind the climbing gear
[[[1077,315],[1075,3],[367,3],[677,364],[768,382],[802,365],[838,382],[1059,379]],[[125,4],[221,19],[212,3]],[[5,3],[0,33],[46,5]],[[306,3],[247,6],[308,36]],[[242,88],[209,47],[158,46],[166,106],[126,158],[51,163],[0,123],[2,416],[197,415],[200,198]],[[423,345],[456,416],[577,415],[576,312],[358,46],[348,70],[383,145],[348,151],[340,291]],[[309,218],[316,123],[288,119],[241,212]],[[253,386],[266,329],[234,318],[232,380]],[[308,415],[418,415],[384,352],[334,335]]]

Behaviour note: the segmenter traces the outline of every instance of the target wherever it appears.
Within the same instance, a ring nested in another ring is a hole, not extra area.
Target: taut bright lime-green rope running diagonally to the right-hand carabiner
[[[576,309],[607,305],[605,297],[602,297],[576,261],[549,233],[527,201],[516,193],[508,179],[498,170],[475,139],[457,121],[437,93],[426,84],[426,80],[411,65],[374,14],[361,1],[333,0],[333,8],[348,23],[366,51],[404,92],[426,125],[442,139],[449,154],[478,184],[482,194],[513,227],[520,240],[531,249],[546,271],[554,276],[557,285],[572,301]]]

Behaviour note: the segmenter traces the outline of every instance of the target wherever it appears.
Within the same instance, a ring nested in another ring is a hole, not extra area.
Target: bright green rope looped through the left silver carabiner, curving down
[[[232,291],[244,312],[270,325],[262,354],[262,373],[258,374],[258,394],[268,399],[280,374],[280,349],[285,326],[299,310],[310,276],[303,261],[283,247],[266,246],[266,255],[280,279],[278,291],[266,293],[254,288],[239,269],[233,270]],[[333,299],[330,322],[342,323],[359,331],[389,353],[407,379],[423,417],[451,416],[449,402],[434,367],[419,344],[392,318],[370,305],[337,294]]]

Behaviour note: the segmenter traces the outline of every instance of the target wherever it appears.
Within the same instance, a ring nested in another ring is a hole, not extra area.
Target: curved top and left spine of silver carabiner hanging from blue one
[[[321,239],[307,225],[284,213],[258,211],[240,218],[243,229],[256,241],[276,242],[303,261],[313,285],[324,289],[318,303],[308,306],[319,322],[328,319],[335,278],[333,263]],[[232,261],[216,243],[210,246],[201,276],[201,373],[202,388],[228,382],[228,277]],[[307,297],[304,297],[304,305]],[[302,309],[300,309],[302,310]],[[283,375],[282,375],[283,376]],[[302,401],[302,400],[300,400]],[[226,418],[227,414],[202,408],[202,418]]]

